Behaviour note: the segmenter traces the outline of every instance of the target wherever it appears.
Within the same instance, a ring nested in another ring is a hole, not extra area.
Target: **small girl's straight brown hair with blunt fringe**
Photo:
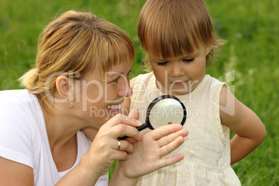
[[[142,49],[149,55],[171,58],[192,53],[199,44],[211,47],[206,57],[226,43],[214,32],[212,19],[202,0],[147,0],[137,22]],[[145,65],[150,70],[146,56]]]

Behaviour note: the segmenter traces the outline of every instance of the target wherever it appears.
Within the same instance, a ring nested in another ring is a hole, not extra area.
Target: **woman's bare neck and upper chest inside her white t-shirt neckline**
[[[58,104],[49,110],[42,110],[53,161],[58,171],[66,171],[76,162],[78,125],[74,125],[71,116],[61,110]]]

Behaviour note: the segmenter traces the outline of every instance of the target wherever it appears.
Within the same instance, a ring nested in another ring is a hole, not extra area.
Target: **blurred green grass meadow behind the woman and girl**
[[[136,25],[144,2],[0,0],[0,90],[20,88],[17,79],[34,64],[40,31],[67,10],[93,12],[126,31],[137,49],[131,78],[143,73]],[[264,142],[233,164],[233,169],[242,185],[279,185],[279,1],[205,3],[217,33],[228,41],[208,74],[227,81],[237,99],[251,108],[267,129]]]

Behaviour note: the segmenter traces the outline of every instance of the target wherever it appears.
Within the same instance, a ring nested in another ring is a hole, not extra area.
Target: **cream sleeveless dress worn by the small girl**
[[[221,125],[219,98],[221,83],[206,75],[193,92],[176,96],[187,110],[183,128],[189,130],[185,142],[166,157],[183,153],[185,158],[169,167],[140,178],[137,185],[241,185],[230,167],[230,129]],[[130,110],[140,110],[145,121],[149,103],[163,95],[156,87],[153,72],[137,76]],[[147,131],[149,129],[145,129]]]

